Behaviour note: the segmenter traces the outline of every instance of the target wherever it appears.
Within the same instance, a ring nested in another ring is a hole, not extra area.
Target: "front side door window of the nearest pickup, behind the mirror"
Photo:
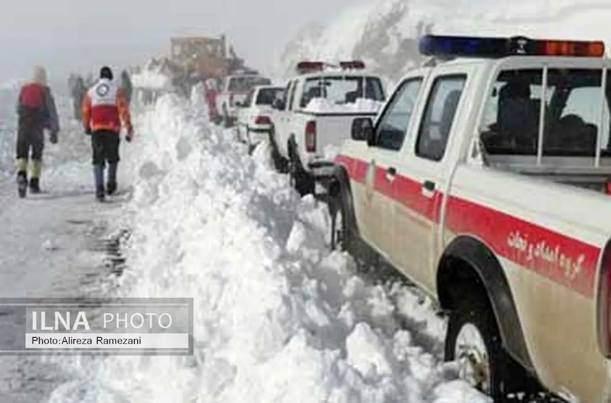
[[[376,147],[400,150],[422,87],[422,78],[404,81],[392,95],[376,128]]]

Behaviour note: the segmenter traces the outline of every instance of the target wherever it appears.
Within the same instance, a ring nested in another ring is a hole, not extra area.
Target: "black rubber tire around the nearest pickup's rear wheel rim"
[[[445,361],[454,361],[456,342],[459,333],[466,325],[477,329],[485,345],[488,355],[488,368],[475,365],[475,374],[488,380],[488,385],[469,382],[473,387],[487,394],[495,402],[508,401],[508,394],[515,393],[516,380],[525,379],[525,371],[505,352],[500,338],[499,326],[490,306],[488,297],[477,290],[469,290],[461,294],[456,309],[450,313],[447,336],[445,338]],[[466,358],[465,358],[466,359]],[[488,376],[486,376],[486,373]],[[486,383],[486,382],[485,382]]]

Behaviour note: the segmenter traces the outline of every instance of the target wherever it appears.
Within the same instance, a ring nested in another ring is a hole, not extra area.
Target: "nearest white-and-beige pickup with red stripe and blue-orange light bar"
[[[335,158],[332,247],[430,294],[445,359],[495,401],[609,401],[604,44],[426,35],[420,52]]]

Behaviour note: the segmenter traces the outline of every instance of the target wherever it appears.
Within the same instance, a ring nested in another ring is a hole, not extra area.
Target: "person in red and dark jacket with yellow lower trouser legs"
[[[59,120],[51,89],[47,85],[45,68],[34,68],[32,81],[21,87],[17,102],[17,183],[20,197],[26,196],[29,184],[32,193],[40,192],[42,154],[45,147],[45,129],[51,143],[57,143]],[[28,159],[32,156],[31,176],[27,181]]]

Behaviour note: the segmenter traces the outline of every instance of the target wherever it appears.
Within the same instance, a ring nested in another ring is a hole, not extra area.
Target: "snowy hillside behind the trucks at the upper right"
[[[611,2],[579,0],[372,0],[326,26],[306,27],[274,65],[292,74],[299,60],[362,59],[392,80],[420,63],[425,32],[602,39],[611,47]]]

